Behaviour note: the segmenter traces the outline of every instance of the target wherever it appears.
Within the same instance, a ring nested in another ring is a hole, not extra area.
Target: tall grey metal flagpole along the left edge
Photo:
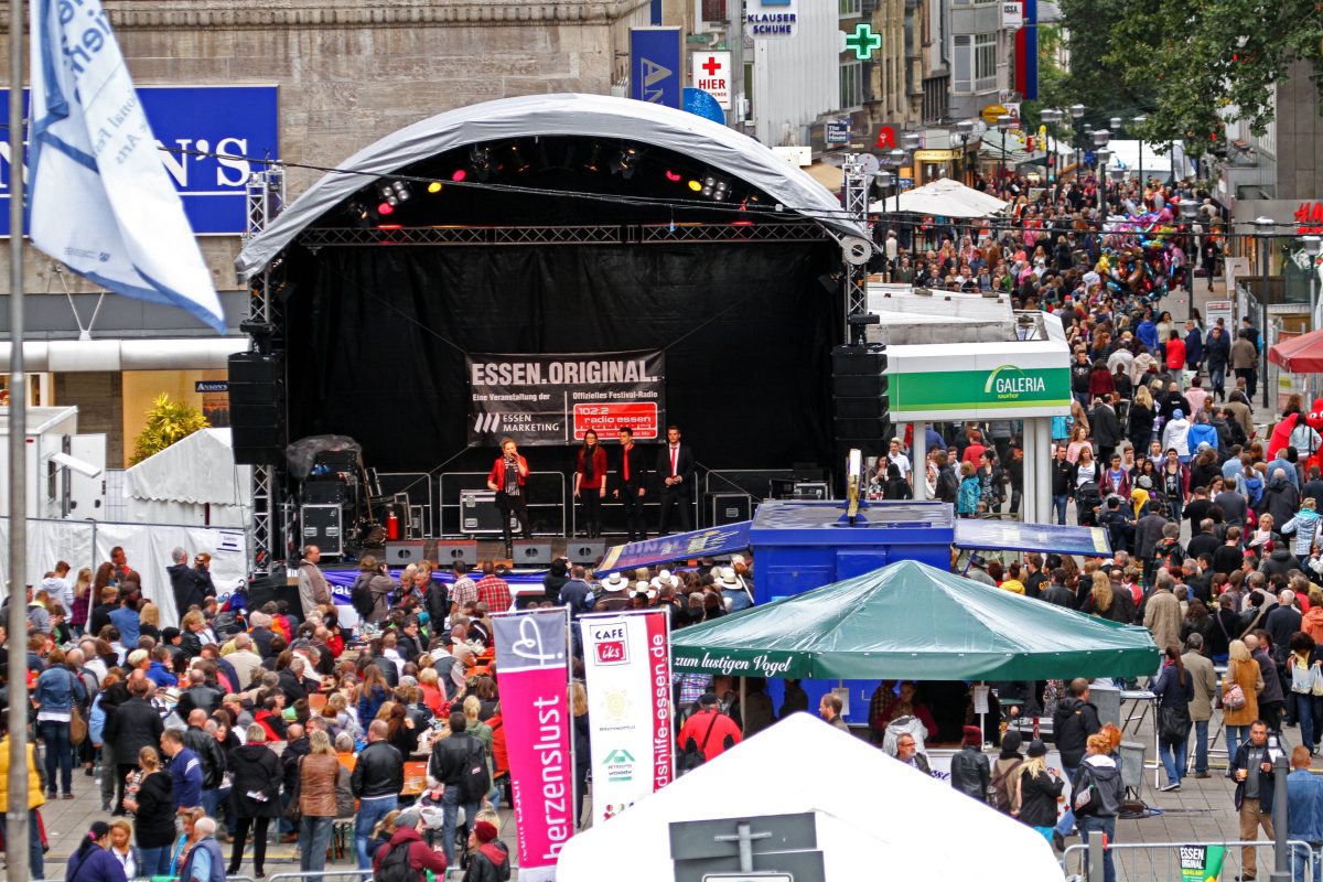
[[[28,381],[22,370],[22,0],[9,0],[9,882],[28,882]]]

